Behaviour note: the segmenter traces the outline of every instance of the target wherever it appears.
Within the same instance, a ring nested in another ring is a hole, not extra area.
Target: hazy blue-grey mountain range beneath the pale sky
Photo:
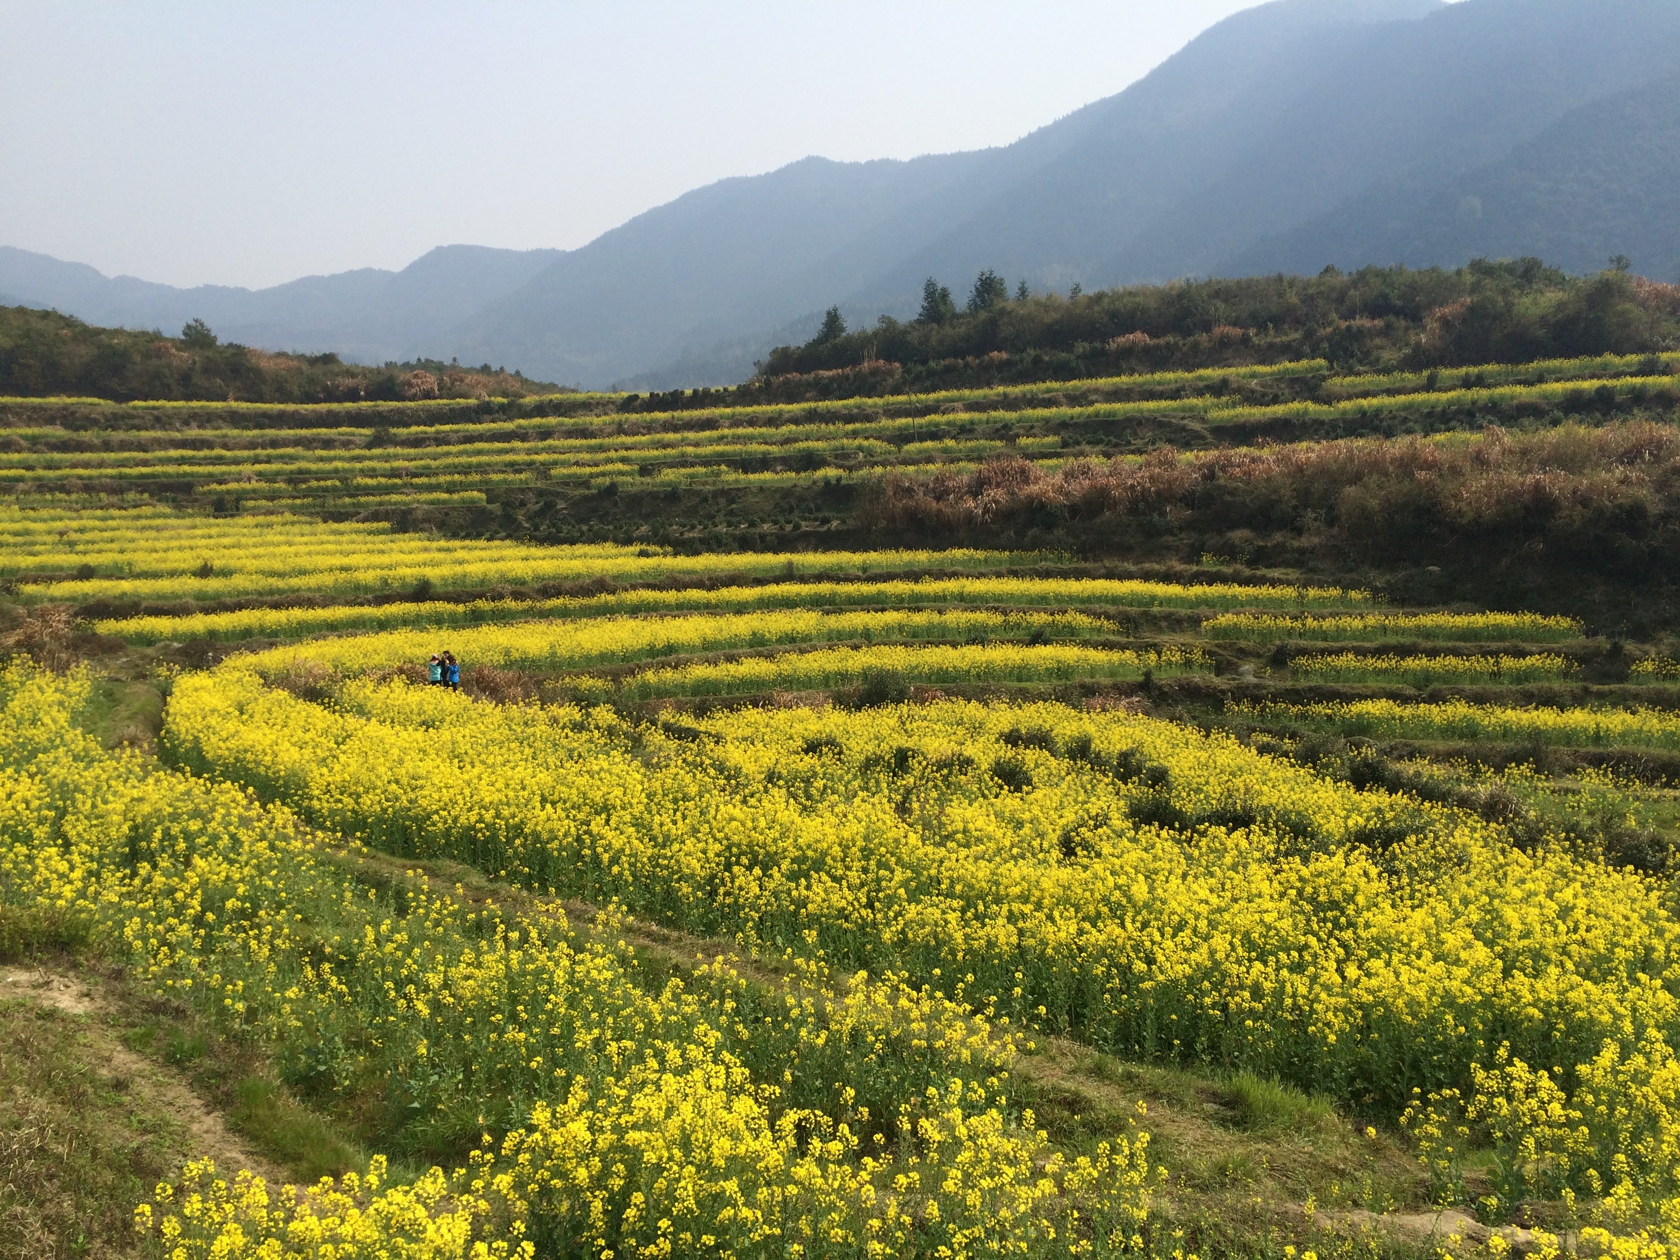
[[[1087,289],[1326,264],[1613,254],[1680,272],[1673,0],[1280,0],[1015,144],[806,158],[722,180],[576,250],[450,245],[400,272],[171,289],[0,247],[0,301],[365,361],[716,385],[926,276]]]

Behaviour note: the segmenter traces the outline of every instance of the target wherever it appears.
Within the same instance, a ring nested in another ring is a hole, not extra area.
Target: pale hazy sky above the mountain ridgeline
[[[0,245],[168,284],[575,247],[727,175],[1021,134],[1250,0],[0,0]]]

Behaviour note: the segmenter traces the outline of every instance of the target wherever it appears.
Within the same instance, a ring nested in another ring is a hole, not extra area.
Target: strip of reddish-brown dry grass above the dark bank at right
[[[1045,470],[1005,457],[969,474],[890,477],[869,509],[884,531],[986,534],[1055,519],[1255,533],[1329,529],[1359,548],[1418,538],[1648,534],[1680,517],[1680,428],[1623,422],[1470,440],[1354,438]]]

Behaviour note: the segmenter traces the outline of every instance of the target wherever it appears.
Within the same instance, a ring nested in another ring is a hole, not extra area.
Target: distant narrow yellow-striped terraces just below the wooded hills
[[[365,512],[566,502],[640,491],[845,491],[882,472],[969,472],[998,454],[1048,469],[1179,447],[1556,423],[1680,403],[1677,356],[1606,356],[1386,376],[1324,363],[847,398],[618,410],[612,395],[296,408],[0,400],[13,496],[136,496],[225,512]],[[455,408],[459,410],[459,407]],[[395,422],[395,423],[393,423]]]

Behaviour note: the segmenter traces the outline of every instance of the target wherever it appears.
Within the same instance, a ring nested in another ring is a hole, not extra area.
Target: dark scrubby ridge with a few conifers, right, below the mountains
[[[1618,260],[1618,267],[1625,262]],[[1680,286],[1621,269],[1571,277],[1539,259],[1457,270],[1336,267],[1314,277],[1184,281],[1060,297],[981,272],[924,284],[916,319],[847,331],[835,309],[778,346],[753,388],[894,393],[1324,358],[1337,370],[1445,368],[1680,344]]]

